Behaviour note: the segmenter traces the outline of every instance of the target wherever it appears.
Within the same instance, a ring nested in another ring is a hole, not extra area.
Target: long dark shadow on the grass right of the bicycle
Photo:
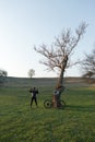
[[[95,113],[95,105],[91,106],[82,106],[82,105],[67,105],[67,110],[78,110],[78,111],[94,111]]]

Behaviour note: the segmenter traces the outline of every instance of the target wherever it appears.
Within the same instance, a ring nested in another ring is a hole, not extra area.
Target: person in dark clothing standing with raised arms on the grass
[[[32,93],[32,99],[31,99],[31,108],[32,108],[33,102],[35,102],[35,104],[37,106],[37,94],[38,94],[38,90],[36,90],[36,87],[31,88],[29,93]]]

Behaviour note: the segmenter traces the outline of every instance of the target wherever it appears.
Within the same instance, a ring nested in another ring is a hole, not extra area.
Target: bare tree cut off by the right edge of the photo
[[[85,54],[85,59],[83,59],[81,66],[84,72],[83,76],[95,76],[95,49],[90,55]]]

